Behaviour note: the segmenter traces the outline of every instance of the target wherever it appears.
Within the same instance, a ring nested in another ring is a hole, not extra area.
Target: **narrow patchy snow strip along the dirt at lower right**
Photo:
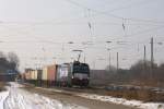
[[[155,104],[155,102],[142,102],[139,100],[127,100],[124,98],[115,98],[110,96],[99,96],[99,95],[93,95],[93,94],[78,94],[77,96],[89,98],[89,99],[95,99],[101,101],[110,101],[114,104],[119,105],[126,105],[131,107],[137,107],[141,109],[164,109],[164,104]]]

